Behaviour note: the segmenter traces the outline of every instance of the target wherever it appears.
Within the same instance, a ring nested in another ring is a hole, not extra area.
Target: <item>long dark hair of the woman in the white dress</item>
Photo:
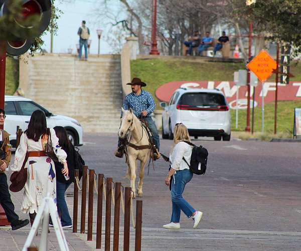
[[[35,110],[30,117],[28,128],[25,131],[28,138],[39,141],[41,135],[47,133],[47,122],[44,111]]]

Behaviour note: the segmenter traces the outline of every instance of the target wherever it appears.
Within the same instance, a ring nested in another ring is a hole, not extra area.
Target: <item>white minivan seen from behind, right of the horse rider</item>
[[[230,140],[231,116],[229,105],[219,89],[178,88],[169,103],[161,102],[162,137],[173,139],[174,127],[183,122],[191,136]]]

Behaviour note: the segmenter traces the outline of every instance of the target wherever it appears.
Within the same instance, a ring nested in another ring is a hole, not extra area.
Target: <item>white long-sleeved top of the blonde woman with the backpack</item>
[[[189,169],[189,165],[184,161],[183,157],[190,163],[192,148],[193,146],[188,143],[178,142],[170,154],[171,167],[175,170]]]

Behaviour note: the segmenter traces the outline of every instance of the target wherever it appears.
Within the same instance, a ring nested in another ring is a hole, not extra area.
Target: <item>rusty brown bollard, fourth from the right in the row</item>
[[[106,179],[106,200],[105,200],[105,235],[104,250],[110,250],[111,241],[111,201],[112,201],[112,178]]]

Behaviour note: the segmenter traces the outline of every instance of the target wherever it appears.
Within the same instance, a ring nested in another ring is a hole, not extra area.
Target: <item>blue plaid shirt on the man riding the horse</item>
[[[136,95],[134,92],[131,92],[126,95],[123,102],[123,109],[129,110],[132,108],[134,114],[139,117],[143,110],[147,111],[147,116],[155,110],[156,103],[155,100],[148,91],[141,90],[140,95]],[[121,111],[122,116],[122,111]]]

